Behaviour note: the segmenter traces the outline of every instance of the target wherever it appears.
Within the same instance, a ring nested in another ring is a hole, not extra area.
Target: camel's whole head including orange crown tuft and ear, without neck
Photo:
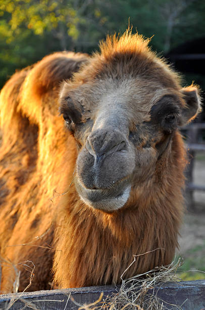
[[[170,164],[177,128],[199,108],[197,88],[181,88],[147,45],[129,31],[108,37],[62,85],[60,111],[78,145],[75,186],[95,209],[120,209],[155,180],[158,163]]]

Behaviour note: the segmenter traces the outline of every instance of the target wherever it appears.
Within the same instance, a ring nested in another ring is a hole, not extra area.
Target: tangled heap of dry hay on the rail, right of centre
[[[119,293],[110,300],[107,309],[138,309],[138,310],[164,310],[170,309],[170,304],[157,297],[160,287],[168,281],[177,281],[177,269],[182,265],[182,259],[173,261],[168,266],[156,267],[149,272],[123,280]],[[107,302],[105,300],[105,302]],[[169,306],[169,307],[167,307]],[[173,305],[182,309],[181,305]]]

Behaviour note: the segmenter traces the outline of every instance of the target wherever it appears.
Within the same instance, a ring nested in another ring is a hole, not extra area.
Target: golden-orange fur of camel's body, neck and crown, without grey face
[[[77,95],[85,118],[88,111],[94,118],[89,96],[95,102],[99,97],[93,83],[100,81],[96,87],[103,93],[107,84],[115,85],[121,78],[129,81],[129,94],[136,92],[144,100],[135,119],[147,121],[156,98],[170,92],[184,108],[177,74],[147,44],[138,34],[126,32],[120,38],[108,37],[92,57],[49,55],[15,73],[3,88],[0,247],[1,256],[21,270],[20,291],[29,283],[27,260],[35,265],[29,290],[49,289],[53,275],[61,288],[119,283],[133,255],[155,249],[138,256],[123,277],[171,262],[183,212],[185,149],[178,130],[154,174],[143,176],[132,186],[126,205],[109,213],[92,209],[79,198],[73,182],[79,149],[59,116],[60,82],[79,68],[61,98],[84,87]],[[135,88],[131,81],[138,76]],[[131,120],[136,113],[133,104],[127,108]],[[2,270],[2,292],[10,292],[14,268],[4,262]]]

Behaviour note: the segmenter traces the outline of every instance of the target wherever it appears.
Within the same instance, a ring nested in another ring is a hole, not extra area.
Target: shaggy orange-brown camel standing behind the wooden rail
[[[17,291],[17,275],[19,291],[107,285],[172,261],[179,128],[200,97],[148,43],[127,30],[92,56],[46,56],[3,88],[1,292]]]

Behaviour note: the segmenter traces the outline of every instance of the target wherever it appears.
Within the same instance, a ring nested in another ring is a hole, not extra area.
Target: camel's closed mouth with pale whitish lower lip
[[[114,211],[122,208],[130,195],[131,185],[126,181],[107,189],[89,189],[76,182],[76,189],[82,201],[94,209]]]

